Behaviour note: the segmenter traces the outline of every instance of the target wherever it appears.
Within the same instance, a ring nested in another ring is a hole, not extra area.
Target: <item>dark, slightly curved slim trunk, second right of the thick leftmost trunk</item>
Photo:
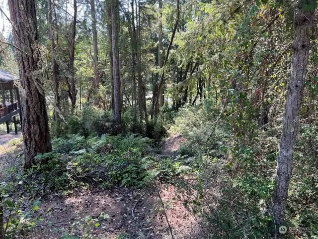
[[[73,16],[73,22],[72,22],[72,37],[70,41],[70,77],[68,77],[68,90],[69,90],[69,97],[71,99],[72,108],[74,109],[76,106],[76,85],[75,85],[75,71],[74,71],[74,57],[75,57],[75,37],[76,37],[76,20],[77,20],[77,13],[78,13],[78,6],[77,6],[77,0],[73,1],[74,5],[74,16]]]

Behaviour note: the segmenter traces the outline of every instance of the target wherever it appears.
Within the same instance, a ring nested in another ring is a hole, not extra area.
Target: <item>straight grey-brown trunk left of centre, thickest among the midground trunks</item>
[[[113,77],[114,77],[114,120],[116,132],[122,131],[121,126],[121,94],[119,75],[119,50],[118,50],[118,29],[119,29],[119,2],[111,0],[111,30],[112,30],[112,51],[113,51]]]

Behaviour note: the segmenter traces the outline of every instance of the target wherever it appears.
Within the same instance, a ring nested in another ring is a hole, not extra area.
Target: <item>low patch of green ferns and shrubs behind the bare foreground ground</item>
[[[26,191],[37,194],[43,193],[43,188],[69,191],[79,186],[109,187],[117,183],[141,187],[154,178],[167,180],[188,170],[182,168],[180,158],[160,161],[146,155],[153,140],[138,134],[88,138],[76,134],[56,138],[53,143],[54,151],[35,157],[37,161],[50,159],[47,164],[34,166],[22,177]]]

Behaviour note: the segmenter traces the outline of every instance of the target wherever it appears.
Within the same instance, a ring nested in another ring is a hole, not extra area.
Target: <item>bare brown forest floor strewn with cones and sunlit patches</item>
[[[175,155],[184,140],[181,135],[166,139],[162,144],[162,156]],[[1,147],[7,148],[0,153],[2,163],[12,160],[9,150],[14,146],[6,143]],[[5,165],[1,165],[3,167]],[[40,198],[41,205],[32,217],[40,217],[41,222],[36,223],[25,238],[60,239],[63,235],[68,238],[67,235],[98,239],[170,239],[168,223],[175,239],[195,238],[198,224],[182,201],[172,200],[175,197],[176,189],[165,183],[148,188],[78,188],[67,195],[62,191],[52,192]],[[21,212],[31,211],[33,201],[24,198]]]

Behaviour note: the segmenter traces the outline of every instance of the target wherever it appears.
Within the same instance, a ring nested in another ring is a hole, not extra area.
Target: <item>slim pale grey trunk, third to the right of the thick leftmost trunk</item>
[[[100,73],[98,71],[98,42],[97,42],[97,29],[96,29],[96,14],[94,0],[90,0],[90,13],[92,19],[92,32],[93,32],[93,48],[94,48],[94,104],[99,105],[99,81]]]

